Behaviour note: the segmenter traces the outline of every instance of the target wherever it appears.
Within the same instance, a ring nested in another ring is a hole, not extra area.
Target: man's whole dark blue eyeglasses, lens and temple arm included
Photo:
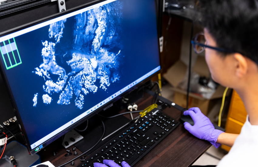
[[[210,49],[214,49],[217,50],[219,52],[226,52],[226,53],[236,53],[236,51],[233,50],[229,50],[229,49],[224,49],[224,48],[217,48],[217,47],[213,47],[213,46],[209,46],[209,45],[205,45],[206,44],[206,40],[204,37],[203,32],[198,33],[193,39],[192,39],[192,45],[194,47],[194,51],[197,54],[202,53],[205,48],[210,48]]]

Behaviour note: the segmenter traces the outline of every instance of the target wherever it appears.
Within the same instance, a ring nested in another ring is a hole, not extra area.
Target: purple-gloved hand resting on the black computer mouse
[[[216,143],[216,141],[223,131],[215,129],[209,118],[202,114],[198,107],[189,108],[189,110],[184,112],[184,115],[190,115],[194,121],[193,126],[188,122],[184,123],[185,129],[192,135],[199,139],[209,141],[216,148],[221,145]]]

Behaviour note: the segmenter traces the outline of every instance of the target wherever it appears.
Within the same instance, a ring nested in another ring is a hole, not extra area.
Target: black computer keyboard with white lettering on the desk
[[[158,108],[140,117],[124,133],[117,135],[94,155],[85,158],[78,167],[93,167],[95,162],[103,163],[104,159],[113,160],[120,166],[123,161],[134,166],[180,124],[162,113],[168,104],[162,101],[158,101],[158,104]]]

